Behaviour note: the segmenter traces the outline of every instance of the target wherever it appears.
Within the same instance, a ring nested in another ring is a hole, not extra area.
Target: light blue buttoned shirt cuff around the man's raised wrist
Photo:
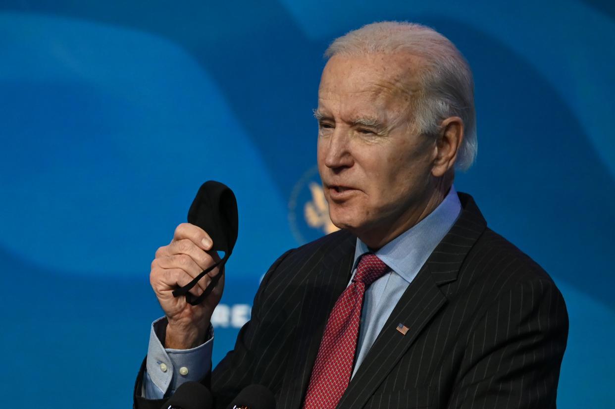
[[[207,341],[192,349],[165,349],[158,334],[164,333],[165,317],[152,323],[149,331],[148,357],[143,384],[146,399],[162,399],[187,381],[200,381],[211,370],[213,327]]]

